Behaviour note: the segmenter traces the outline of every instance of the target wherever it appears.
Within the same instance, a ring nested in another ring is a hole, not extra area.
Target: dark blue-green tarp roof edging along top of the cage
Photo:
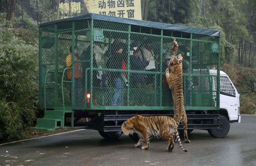
[[[66,18],[66,19],[46,22],[46,23],[40,24],[39,27],[42,27],[42,26],[45,26],[45,25],[50,25],[50,24],[55,24],[55,23],[58,23],[58,22],[73,21],[73,20],[84,20],[84,19],[113,21],[113,22],[119,22],[119,23],[124,23],[124,24],[131,24],[131,25],[138,25],[138,26],[144,26],[144,27],[150,27],[150,28],[166,29],[166,30],[172,30],[172,31],[179,31],[179,32],[187,32],[187,33],[193,33],[193,34],[201,34],[201,35],[219,36],[220,37],[220,31],[219,30],[211,30],[211,29],[204,29],[204,28],[181,26],[181,25],[164,24],[164,23],[159,23],[159,22],[151,22],[151,21],[143,21],[143,20],[134,20],[134,19],[127,19],[127,18],[122,18],[122,17],[108,16],[108,15],[95,14],[95,13],[88,13],[88,14],[74,16],[74,17],[70,17],[70,18]]]

